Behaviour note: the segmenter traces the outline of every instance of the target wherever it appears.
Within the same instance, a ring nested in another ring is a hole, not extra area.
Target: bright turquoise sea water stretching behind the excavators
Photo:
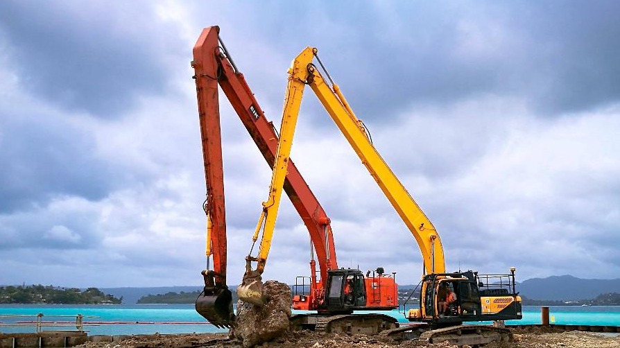
[[[44,322],[75,322],[75,316],[84,315],[85,330],[90,335],[128,335],[149,333],[212,333],[226,332],[206,322],[193,308],[193,304],[119,304],[119,305],[0,305],[0,332],[35,332],[33,324],[19,327],[2,327],[17,321],[36,321],[43,313]],[[397,310],[379,312],[407,322]],[[28,315],[28,317],[2,317],[2,315]],[[55,317],[69,315],[69,317]],[[620,326],[620,306],[551,306],[552,324],[615,325]],[[132,324],[92,324],[88,322],[131,322]],[[140,324],[136,324],[139,322]],[[178,324],[170,324],[178,323]],[[540,306],[524,306],[522,320],[509,320],[506,324],[540,324]],[[44,327],[44,329],[75,329]]]

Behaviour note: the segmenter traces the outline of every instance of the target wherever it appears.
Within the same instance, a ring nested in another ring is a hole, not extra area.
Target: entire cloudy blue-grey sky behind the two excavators
[[[617,1],[0,1],[0,284],[200,286],[191,50],[221,37],[268,119],[306,46],[436,225],[447,269],[620,277]],[[222,96],[223,97],[223,94]],[[270,168],[221,99],[229,284]],[[339,266],[417,284],[413,237],[310,89],[293,160]],[[264,279],[309,274],[283,199]]]

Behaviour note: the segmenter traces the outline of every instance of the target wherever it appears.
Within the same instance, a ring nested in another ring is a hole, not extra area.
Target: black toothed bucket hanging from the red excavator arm
[[[234,327],[232,292],[228,288],[205,288],[196,298],[196,312],[215,327]]]

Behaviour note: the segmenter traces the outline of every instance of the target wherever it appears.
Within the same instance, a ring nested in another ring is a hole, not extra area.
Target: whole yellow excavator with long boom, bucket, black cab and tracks
[[[483,345],[497,340],[510,340],[508,329],[479,324],[463,325],[463,322],[522,318],[522,301],[515,290],[515,268],[511,268],[510,274],[505,275],[479,275],[472,271],[446,272],[444,250],[436,228],[374,148],[363,122],[356,117],[317,53],[315,48],[304,49],[293,60],[289,69],[277,148],[277,157],[281,160],[276,162],[274,175],[286,173],[286,162],[291,151],[304,87],[309,85],[413,234],[422,252],[424,275],[420,281],[420,304],[417,308],[409,308],[408,311],[405,308],[403,311],[414,324],[388,329],[383,333],[408,333],[408,337],[417,337],[427,342],[448,340],[457,345]],[[331,83],[328,84],[318,71],[318,67],[313,63],[315,58]],[[284,168],[277,168],[278,163]],[[282,186],[282,180],[283,177],[274,176],[271,189]],[[277,205],[279,197],[275,199],[265,202],[264,207]],[[267,210],[264,209],[259,219],[253,240],[257,241],[263,220],[266,220],[265,224],[269,227],[266,229],[268,234],[262,236],[258,256],[251,256],[250,250],[250,256],[246,258],[243,283],[237,288],[240,299],[257,305],[264,303],[260,275],[266,263],[273,234],[272,225],[276,218],[275,214],[265,216],[265,211]],[[277,210],[275,212],[277,213]],[[254,270],[251,267],[252,262],[257,263]]]

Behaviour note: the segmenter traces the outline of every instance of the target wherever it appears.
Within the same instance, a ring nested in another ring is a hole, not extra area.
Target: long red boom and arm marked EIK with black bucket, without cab
[[[248,86],[236,68],[219,35],[219,27],[203,29],[193,47],[193,60],[198,98],[200,134],[207,183],[207,259],[205,292],[196,300],[196,311],[209,322],[229,327],[234,322],[232,294],[226,285],[226,224],[221,149],[218,85],[255,141],[270,168],[275,162],[278,136]],[[293,162],[284,180],[284,191],[306,225],[320,278],[327,279],[327,270],[338,268],[330,220],[313,195]],[[311,261],[313,267],[314,261]],[[212,268],[212,269],[209,269]],[[313,276],[313,275],[312,275]],[[315,277],[312,277],[313,279]]]

